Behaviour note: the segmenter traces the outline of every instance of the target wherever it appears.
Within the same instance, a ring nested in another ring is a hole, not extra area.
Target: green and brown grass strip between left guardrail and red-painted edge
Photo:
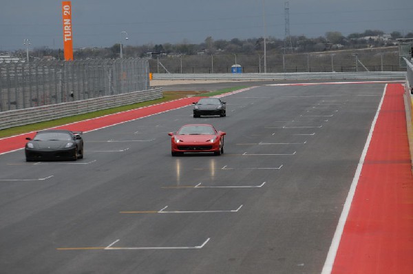
[[[22,125],[20,127],[10,127],[8,129],[1,129],[0,138],[5,138],[5,137],[17,135],[17,134],[23,134],[23,133],[30,132],[30,131],[38,131],[38,130],[47,129],[50,127],[58,127],[59,125],[66,125],[66,124],[75,123],[81,120],[92,119],[92,118],[105,116],[109,114],[115,114],[118,112],[125,112],[127,110],[137,109],[139,107],[147,107],[148,105],[155,105],[155,104],[163,103],[167,101],[173,101],[173,100],[184,98],[187,96],[198,96],[198,95],[215,96],[215,95],[224,94],[227,92],[233,92],[234,90],[242,89],[242,88],[244,87],[231,87],[231,88],[226,88],[226,89],[219,89],[215,92],[204,92],[204,93],[202,92],[164,92],[163,98],[159,98],[156,100],[136,103],[132,105],[123,105],[121,107],[113,107],[110,109],[102,109],[102,110],[98,110],[97,112],[89,112],[86,114],[59,118],[56,120],[48,120],[45,122],[34,123],[30,125]]]

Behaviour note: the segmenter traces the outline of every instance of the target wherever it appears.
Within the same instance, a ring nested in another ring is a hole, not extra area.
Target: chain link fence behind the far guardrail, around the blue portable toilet
[[[162,56],[149,61],[155,73],[231,73],[231,66],[242,66],[244,73],[263,73],[264,56],[239,54],[202,54],[195,56]],[[165,70],[165,68],[166,70]],[[363,51],[357,53],[267,54],[266,72],[401,72],[399,52]]]

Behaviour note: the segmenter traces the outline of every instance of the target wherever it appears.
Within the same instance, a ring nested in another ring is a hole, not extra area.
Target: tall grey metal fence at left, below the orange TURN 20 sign
[[[0,112],[146,89],[147,59],[0,63]]]

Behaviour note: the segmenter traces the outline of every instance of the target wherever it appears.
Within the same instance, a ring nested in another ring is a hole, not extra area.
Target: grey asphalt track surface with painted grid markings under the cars
[[[225,118],[89,131],[76,162],[0,155],[0,272],[321,273],[384,88],[265,85]],[[171,157],[187,123],[226,131],[225,153]]]

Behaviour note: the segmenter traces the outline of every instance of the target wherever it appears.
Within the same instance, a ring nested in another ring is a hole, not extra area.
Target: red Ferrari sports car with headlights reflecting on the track
[[[168,134],[171,138],[172,156],[184,152],[213,152],[215,155],[224,153],[223,131],[217,131],[213,125],[191,124],[182,126],[176,133]]]

